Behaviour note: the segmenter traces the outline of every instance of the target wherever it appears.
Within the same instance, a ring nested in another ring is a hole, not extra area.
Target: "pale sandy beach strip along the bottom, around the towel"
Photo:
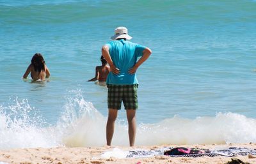
[[[170,157],[152,156],[148,158],[116,158],[104,157],[103,154],[118,149],[120,151],[131,150],[154,150],[161,147],[194,147],[199,149],[220,149],[228,147],[247,147],[256,149],[256,144],[223,144],[223,145],[161,145],[161,146],[136,146],[136,147],[52,147],[52,148],[29,148],[10,149],[0,151],[0,163],[218,163],[223,164],[238,158],[244,162],[256,163],[255,156],[203,156],[203,157]]]

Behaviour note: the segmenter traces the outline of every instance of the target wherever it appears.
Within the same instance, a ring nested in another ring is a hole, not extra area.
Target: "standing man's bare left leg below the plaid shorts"
[[[117,117],[118,110],[109,108],[108,109],[108,122],[106,127],[106,138],[107,138],[107,145],[111,145],[111,141],[114,134],[115,129],[115,121]]]

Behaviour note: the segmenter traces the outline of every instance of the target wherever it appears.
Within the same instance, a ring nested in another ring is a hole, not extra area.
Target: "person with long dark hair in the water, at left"
[[[32,57],[31,64],[29,64],[23,78],[27,78],[29,73],[33,80],[45,80],[45,78],[50,77],[50,71],[45,64],[44,57],[40,53],[36,53]]]

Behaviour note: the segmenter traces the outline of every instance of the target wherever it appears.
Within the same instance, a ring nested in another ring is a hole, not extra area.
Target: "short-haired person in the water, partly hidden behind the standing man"
[[[93,82],[96,80],[98,80],[99,82],[106,82],[110,68],[108,66],[107,61],[104,59],[103,56],[100,57],[100,61],[101,61],[102,65],[96,66],[95,77],[88,80],[88,82]]]

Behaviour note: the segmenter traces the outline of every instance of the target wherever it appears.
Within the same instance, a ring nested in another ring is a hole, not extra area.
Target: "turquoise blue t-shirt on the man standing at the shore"
[[[106,84],[138,84],[135,73],[131,75],[128,71],[136,64],[138,57],[143,55],[142,52],[146,47],[125,40],[110,41],[106,45],[109,47],[109,54],[114,65],[120,70],[118,75],[110,72]]]

